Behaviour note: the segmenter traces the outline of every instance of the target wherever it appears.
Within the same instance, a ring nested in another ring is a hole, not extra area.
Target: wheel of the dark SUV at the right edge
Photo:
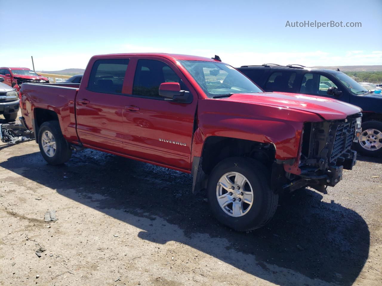
[[[371,120],[362,124],[357,149],[365,156],[382,156],[382,121]]]

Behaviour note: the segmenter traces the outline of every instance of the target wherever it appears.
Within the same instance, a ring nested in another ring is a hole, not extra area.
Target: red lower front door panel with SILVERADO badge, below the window
[[[128,105],[139,108],[123,109],[124,140],[129,153],[189,169],[196,102],[185,104],[129,97]]]

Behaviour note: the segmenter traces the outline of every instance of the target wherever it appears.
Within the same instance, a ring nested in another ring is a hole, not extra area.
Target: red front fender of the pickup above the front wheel
[[[220,136],[269,143],[275,146],[275,159],[296,159],[304,122],[317,121],[322,121],[317,114],[291,108],[199,100],[191,158],[201,157],[208,137]]]

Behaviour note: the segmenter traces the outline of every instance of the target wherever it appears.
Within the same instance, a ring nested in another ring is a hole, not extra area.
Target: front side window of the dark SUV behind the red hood
[[[337,87],[330,79],[322,74],[305,74],[301,82],[300,93],[327,95],[329,87]]]

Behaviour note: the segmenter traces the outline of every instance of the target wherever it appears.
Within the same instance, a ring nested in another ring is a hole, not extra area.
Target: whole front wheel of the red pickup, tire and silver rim
[[[207,196],[219,222],[238,231],[264,226],[275,214],[278,194],[270,190],[267,168],[244,157],[224,159],[212,170]]]

